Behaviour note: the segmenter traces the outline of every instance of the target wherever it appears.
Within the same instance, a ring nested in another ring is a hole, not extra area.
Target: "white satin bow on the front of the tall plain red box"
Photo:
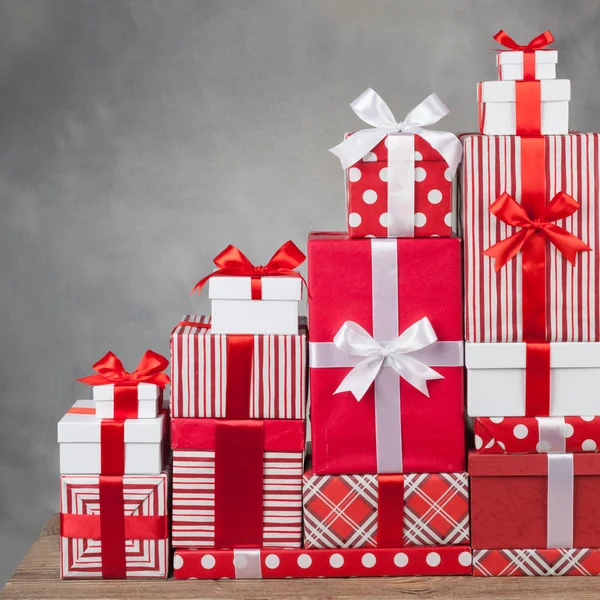
[[[387,345],[374,340],[354,321],[346,321],[335,334],[334,344],[343,352],[365,358],[344,377],[334,394],[352,392],[354,397],[360,400],[387,361],[400,377],[429,397],[427,382],[444,377],[408,355],[433,344],[436,340],[437,336],[427,317],[413,323],[395,342]]]

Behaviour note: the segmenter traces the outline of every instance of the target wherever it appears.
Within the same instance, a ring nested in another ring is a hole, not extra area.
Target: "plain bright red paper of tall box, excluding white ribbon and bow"
[[[398,239],[393,243],[398,261],[399,333],[428,317],[438,340],[461,340],[460,241]],[[371,260],[371,240],[350,240],[339,233],[311,234],[311,343],[331,343],[347,320],[373,333]],[[464,471],[463,369],[434,369],[444,379],[428,382],[429,398],[400,381],[404,472]],[[358,402],[349,392],[333,394],[350,369],[311,367],[310,371],[314,472],[376,473],[373,385]]]

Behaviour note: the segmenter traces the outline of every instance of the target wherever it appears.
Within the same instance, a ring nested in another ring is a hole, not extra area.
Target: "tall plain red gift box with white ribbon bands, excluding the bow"
[[[464,471],[460,241],[313,233],[308,260],[314,472]],[[335,393],[362,359],[334,343],[347,323],[364,328],[369,343],[389,346],[425,317],[437,341],[407,355],[443,377],[426,383],[429,397],[385,356],[360,401]]]

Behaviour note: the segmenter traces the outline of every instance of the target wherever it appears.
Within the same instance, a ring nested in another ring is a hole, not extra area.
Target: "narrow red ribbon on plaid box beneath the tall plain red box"
[[[378,475],[377,488],[377,547],[400,548],[404,545],[404,475]]]

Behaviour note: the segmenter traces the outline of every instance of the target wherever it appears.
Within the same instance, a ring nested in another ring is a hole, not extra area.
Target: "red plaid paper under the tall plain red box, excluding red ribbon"
[[[377,475],[309,472],[303,497],[306,548],[378,546]],[[468,544],[467,474],[405,474],[403,511],[404,546]]]

